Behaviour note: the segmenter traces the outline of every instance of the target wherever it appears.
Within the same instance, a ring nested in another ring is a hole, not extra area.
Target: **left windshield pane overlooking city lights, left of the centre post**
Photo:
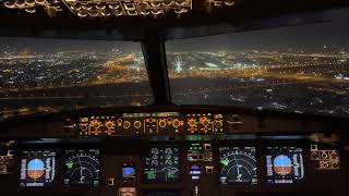
[[[3,118],[153,101],[141,45],[0,37]]]

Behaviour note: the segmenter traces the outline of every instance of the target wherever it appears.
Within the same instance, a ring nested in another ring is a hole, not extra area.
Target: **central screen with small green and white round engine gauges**
[[[147,182],[171,183],[179,180],[179,149],[172,146],[153,147],[145,157]]]

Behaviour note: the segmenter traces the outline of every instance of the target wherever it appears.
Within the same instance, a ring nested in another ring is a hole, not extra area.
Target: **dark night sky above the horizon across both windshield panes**
[[[225,34],[218,36],[176,39],[167,42],[167,51],[293,51],[321,52],[324,46],[335,50],[349,50],[348,22],[336,21],[321,24],[309,24],[245,33]],[[113,40],[73,40],[48,38],[13,38],[0,37],[0,49],[27,48],[37,52],[57,51],[97,51],[106,52],[121,49],[122,52],[139,52],[141,45],[132,41]]]

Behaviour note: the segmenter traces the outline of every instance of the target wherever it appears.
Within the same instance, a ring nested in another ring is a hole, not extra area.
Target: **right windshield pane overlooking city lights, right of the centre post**
[[[349,117],[345,21],[166,42],[177,105]]]

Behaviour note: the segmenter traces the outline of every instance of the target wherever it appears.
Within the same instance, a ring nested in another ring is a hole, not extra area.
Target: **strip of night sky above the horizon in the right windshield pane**
[[[304,50],[323,51],[324,46],[349,50],[349,25],[347,21],[310,24],[245,33],[225,34],[194,39],[169,41],[168,51],[251,51],[276,50],[279,52]]]

